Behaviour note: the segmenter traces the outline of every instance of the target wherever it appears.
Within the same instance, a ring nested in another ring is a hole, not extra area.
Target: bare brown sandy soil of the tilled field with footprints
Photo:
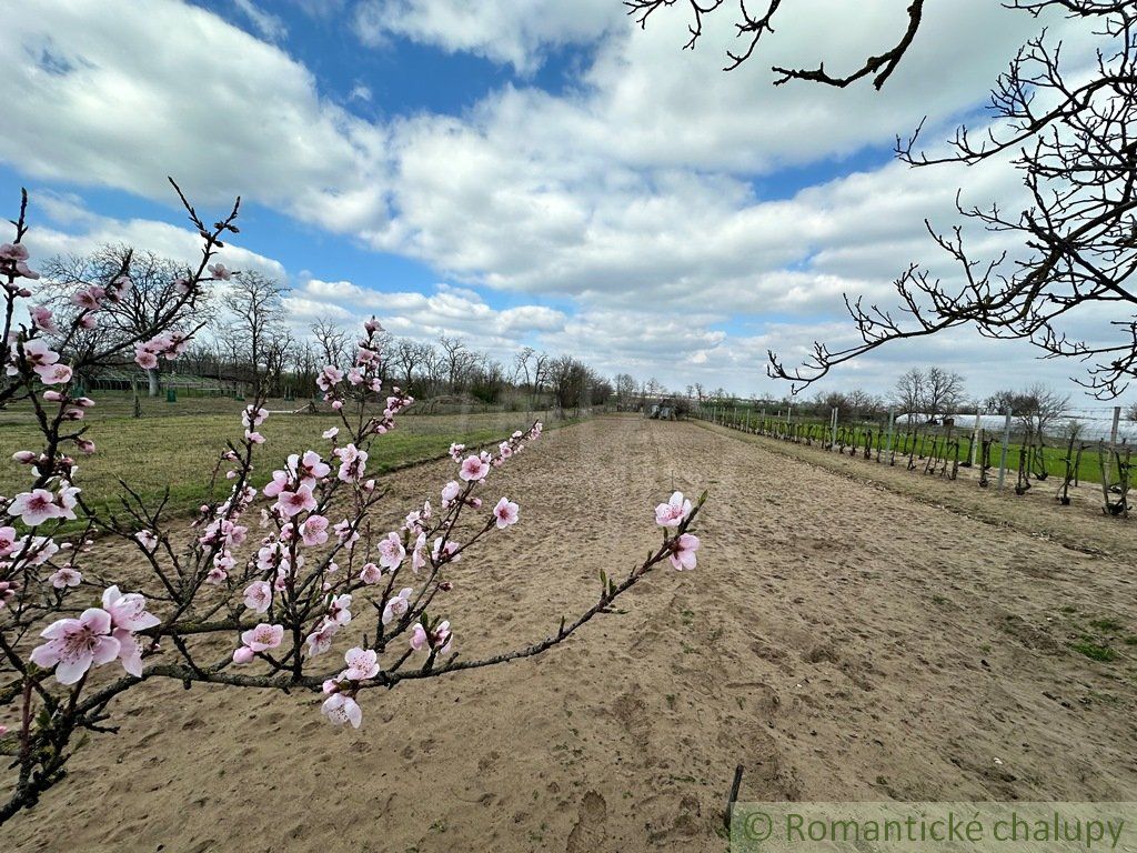
[[[358,732],[315,697],[144,685],[2,846],[721,851],[737,764],[742,800],[1137,798],[1137,646],[1070,647],[1103,619],[1137,633],[1131,548],[1074,550],[694,423],[600,419],[495,474],[523,523],[458,566],[462,651],[588,606],[600,569],[656,541],[672,488],[711,490],[699,566],[637,587],[628,613],[537,660],[372,694]]]

